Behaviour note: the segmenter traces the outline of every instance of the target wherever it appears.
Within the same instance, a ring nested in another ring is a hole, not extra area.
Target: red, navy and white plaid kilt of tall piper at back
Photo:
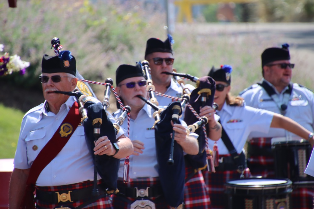
[[[185,168],[186,176],[192,168]],[[193,171],[194,172],[194,171]],[[184,187],[184,203],[186,209],[210,209],[210,198],[208,188],[205,184],[201,171],[198,171],[193,177],[187,181]]]

